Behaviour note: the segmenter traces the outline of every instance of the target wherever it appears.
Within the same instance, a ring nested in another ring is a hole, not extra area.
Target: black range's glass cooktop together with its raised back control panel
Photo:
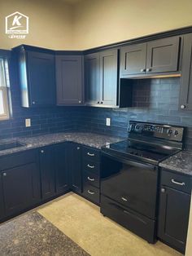
[[[183,131],[181,126],[130,121],[128,139],[111,143],[102,150],[114,156],[158,166],[160,161],[181,151]]]

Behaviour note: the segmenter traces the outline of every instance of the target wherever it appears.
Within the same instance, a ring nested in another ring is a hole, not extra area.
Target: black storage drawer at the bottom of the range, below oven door
[[[103,195],[101,195],[101,213],[146,241],[155,242],[155,220],[137,214]]]

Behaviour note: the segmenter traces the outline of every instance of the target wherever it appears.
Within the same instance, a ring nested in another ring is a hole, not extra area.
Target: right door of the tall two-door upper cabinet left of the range
[[[117,104],[117,50],[103,51],[100,54],[100,84],[102,104]]]

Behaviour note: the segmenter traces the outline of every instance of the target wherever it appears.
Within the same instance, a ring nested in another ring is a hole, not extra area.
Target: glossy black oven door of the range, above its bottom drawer
[[[102,152],[101,193],[155,219],[158,167]]]

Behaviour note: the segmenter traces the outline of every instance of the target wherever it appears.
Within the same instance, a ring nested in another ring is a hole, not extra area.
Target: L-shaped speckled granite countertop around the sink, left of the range
[[[98,135],[98,134],[87,133],[87,132],[68,132],[68,133],[63,132],[63,133],[55,133],[55,134],[47,134],[47,135],[38,135],[33,137],[0,139],[0,143],[9,143],[13,140],[19,143],[23,143],[24,146],[2,150],[0,151],[0,157],[9,155],[15,152],[22,152],[27,149],[41,148],[43,146],[47,146],[50,144],[63,143],[67,141],[81,143],[85,146],[100,149],[102,146],[105,146],[109,143],[119,142],[123,140],[123,138],[113,137],[108,135]]]

